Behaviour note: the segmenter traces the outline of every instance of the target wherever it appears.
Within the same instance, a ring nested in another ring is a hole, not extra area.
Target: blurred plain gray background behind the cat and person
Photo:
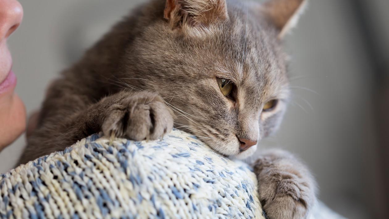
[[[61,69],[145,1],[19,0],[24,19],[9,47],[28,112]],[[286,37],[293,101],[280,131],[263,142],[300,156],[320,199],[350,219],[389,218],[388,9],[388,0],[310,1]],[[0,172],[24,145],[22,136],[1,152]]]

